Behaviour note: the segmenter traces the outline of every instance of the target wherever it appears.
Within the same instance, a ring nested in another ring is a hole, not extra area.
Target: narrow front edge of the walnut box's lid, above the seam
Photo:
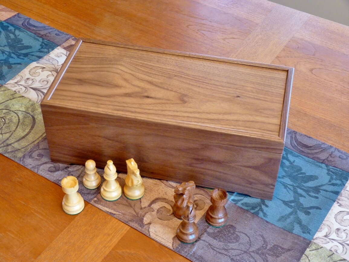
[[[261,136],[261,134],[238,132],[231,130],[211,130],[209,127],[200,126],[193,128],[182,123],[169,124],[151,119],[139,119],[135,117],[117,114],[106,114],[100,111],[60,107],[52,103],[41,104],[43,115],[64,118],[73,121],[95,123],[101,126],[115,126],[129,130],[142,130],[146,133],[160,134],[169,137],[201,140],[209,143],[250,148],[282,154],[284,141],[280,137]]]

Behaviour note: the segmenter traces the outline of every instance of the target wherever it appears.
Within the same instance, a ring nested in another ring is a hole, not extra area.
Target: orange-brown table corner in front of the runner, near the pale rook
[[[80,214],[66,214],[59,185],[1,154],[0,166],[7,174],[0,185],[1,261],[142,261],[141,250],[152,261],[187,261],[87,202]]]

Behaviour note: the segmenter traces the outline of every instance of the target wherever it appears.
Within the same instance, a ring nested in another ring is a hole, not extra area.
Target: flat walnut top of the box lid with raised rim
[[[279,141],[288,69],[82,42],[43,104]]]

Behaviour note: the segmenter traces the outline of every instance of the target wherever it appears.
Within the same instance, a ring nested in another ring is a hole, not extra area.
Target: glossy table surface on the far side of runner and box
[[[268,25],[266,31],[270,32],[270,38],[259,38],[259,56],[268,57],[263,53],[269,52],[267,50],[270,48],[267,47],[272,43],[271,46],[281,52],[276,55],[276,58],[270,57],[267,58],[268,61],[263,60],[263,62],[295,67],[296,77],[288,126],[344,151],[349,151],[349,136],[346,135],[348,125],[342,118],[343,115],[348,114],[349,110],[346,100],[346,97],[349,97],[349,91],[345,88],[348,83],[346,78],[338,78],[336,75],[338,70],[346,70],[348,64],[348,50],[343,44],[345,43],[343,39],[348,37],[347,26],[305,15],[291,8],[280,7],[266,0],[235,0],[233,2],[219,0],[153,2],[148,0],[134,3],[132,8],[129,7],[128,1],[88,0],[83,6],[80,6],[79,1],[68,0],[60,1],[59,4],[53,0],[33,0],[30,6],[23,0],[3,0],[1,3],[76,37],[221,57],[236,57],[235,53],[242,52],[238,51],[239,48],[247,45],[247,43],[243,44],[247,41],[247,37],[254,30],[261,31],[266,28],[263,25],[266,23]],[[76,9],[76,6],[79,8]],[[293,15],[287,15],[289,12]],[[279,30],[279,26],[272,26],[272,24],[278,24],[276,21],[282,22],[283,25],[293,21],[292,24],[297,30],[291,27],[287,30]],[[282,33],[283,41],[277,40],[280,37],[273,37],[274,34]],[[305,39],[305,42],[294,43],[299,36]],[[288,39],[291,40],[287,42]],[[301,49],[297,49],[299,45]],[[289,46],[294,50],[290,56]],[[310,51],[305,54],[308,66],[304,67],[303,63],[296,63],[298,51],[309,48]],[[313,48],[317,51],[311,51]],[[337,68],[337,70],[329,70],[323,75],[322,79],[325,82],[319,81],[309,88],[309,82],[311,82],[309,77],[313,75],[313,67],[310,65],[320,62],[324,67],[327,59],[331,60],[331,50],[337,50],[336,54],[341,58],[341,64],[344,66],[333,65],[331,68]],[[246,56],[238,58],[251,60],[248,56],[251,51],[255,53],[254,50],[246,50]],[[322,92],[326,95],[322,95]],[[337,93],[341,94],[340,99]],[[309,97],[317,102],[310,103]],[[318,104],[321,106],[317,106]],[[321,122],[320,128],[319,122]]]

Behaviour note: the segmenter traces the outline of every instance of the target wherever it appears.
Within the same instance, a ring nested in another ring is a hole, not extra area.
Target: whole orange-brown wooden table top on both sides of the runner
[[[349,152],[347,26],[263,0],[1,4],[75,37],[295,67],[289,128]],[[88,203],[65,214],[58,185],[3,156],[0,166],[2,261],[186,260]]]

